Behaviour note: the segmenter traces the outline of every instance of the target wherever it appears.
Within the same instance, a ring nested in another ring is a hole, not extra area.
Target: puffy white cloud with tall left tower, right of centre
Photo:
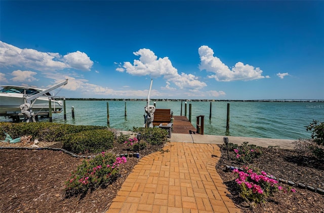
[[[265,78],[262,70],[249,64],[237,62],[232,69],[225,65],[218,57],[214,56],[214,51],[208,46],[201,46],[198,49],[200,57],[200,70],[213,73],[209,78],[216,81],[251,81]]]

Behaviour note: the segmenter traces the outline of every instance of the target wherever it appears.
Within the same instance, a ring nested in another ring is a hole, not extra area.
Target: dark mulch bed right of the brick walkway
[[[296,193],[277,192],[267,202],[253,205],[239,197],[239,189],[234,182],[236,177],[232,172],[226,172],[226,165],[242,167],[234,158],[235,153],[227,152],[225,146],[220,146],[222,157],[217,164],[217,171],[221,175],[225,185],[231,192],[231,199],[242,212],[324,212],[324,195],[307,189],[300,189],[297,186]],[[311,156],[303,156],[295,150],[279,148],[261,148],[261,157],[250,163],[250,166],[259,168],[277,179],[285,179],[296,183],[302,183],[316,188],[324,189],[324,159],[317,159]],[[281,184],[281,183],[280,183]],[[281,184],[289,187],[287,184]]]

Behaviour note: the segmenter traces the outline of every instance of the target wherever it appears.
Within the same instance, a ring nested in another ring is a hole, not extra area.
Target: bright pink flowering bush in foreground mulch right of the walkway
[[[237,175],[235,182],[241,190],[240,196],[244,199],[259,203],[278,190],[287,191],[279,186],[278,182],[271,178],[271,175],[268,177],[264,171],[255,172],[251,168],[245,167],[244,171],[234,169],[233,173]],[[295,189],[291,191],[295,192]]]

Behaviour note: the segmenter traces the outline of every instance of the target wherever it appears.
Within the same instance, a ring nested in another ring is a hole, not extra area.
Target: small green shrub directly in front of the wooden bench
[[[168,130],[166,129],[133,127],[133,132],[140,133],[142,139],[151,145],[162,145],[168,140]]]

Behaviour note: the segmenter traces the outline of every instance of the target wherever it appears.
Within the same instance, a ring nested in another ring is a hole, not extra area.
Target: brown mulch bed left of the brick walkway
[[[61,144],[51,147],[61,148]],[[148,145],[139,153],[143,157],[159,150],[160,146]],[[115,144],[110,152],[127,153],[121,144]],[[61,151],[0,150],[0,212],[105,212],[139,161],[127,158],[127,163],[120,165],[120,177],[107,188],[88,192],[83,198],[65,198],[64,182],[82,160]]]

